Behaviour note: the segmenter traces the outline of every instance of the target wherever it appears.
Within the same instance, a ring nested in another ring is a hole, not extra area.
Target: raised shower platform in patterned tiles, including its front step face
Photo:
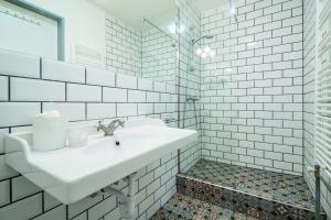
[[[301,176],[201,160],[177,185],[178,194],[252,218],[314,219],[314,198]]]

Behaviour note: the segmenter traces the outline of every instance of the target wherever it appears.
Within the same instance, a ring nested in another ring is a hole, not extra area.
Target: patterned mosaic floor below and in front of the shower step
[[[257,220],[243,213],[177,194],[150,220]]]

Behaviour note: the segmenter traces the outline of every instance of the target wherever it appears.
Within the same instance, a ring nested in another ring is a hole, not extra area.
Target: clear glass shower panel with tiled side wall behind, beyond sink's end
[[[193,42],[200,37],[200,14],[191,1],[177,1],[178,7],[178,91],[179,128],[199,132],[199,140],[179,152],[179,172],[184,173],[201,158],[200,141],[200,59]]]

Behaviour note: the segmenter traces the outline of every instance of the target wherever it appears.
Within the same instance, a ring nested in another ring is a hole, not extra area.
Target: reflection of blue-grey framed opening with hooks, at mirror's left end
[[[64,61],[63,19],[23,1],[0,0],[0,48]]]

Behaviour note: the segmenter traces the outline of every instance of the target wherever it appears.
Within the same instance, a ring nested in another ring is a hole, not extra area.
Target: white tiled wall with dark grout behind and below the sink
[[[94,125],[98,119],[116,117],[177,117],[175,87],[9,51],[0,51],[0,219],[120,219],[115,196],[64,206],[7,166],[3,134],[31,130],[34,114],[53,109],[71,124]],[[182,163],[189,166],[191,157],[188,146]],[[175,194],[177,172],[177,152],[138,170],[137,219],[148,219]]]

